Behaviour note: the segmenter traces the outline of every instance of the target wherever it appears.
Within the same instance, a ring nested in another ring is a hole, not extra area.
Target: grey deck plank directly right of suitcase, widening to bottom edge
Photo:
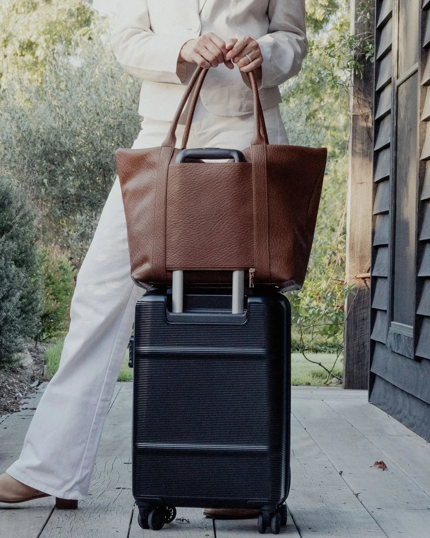
[[[303,400],[300,400],[302,405]],[[315,405],[311,402],[311,405]],[[323,404],[321,404],[323,405]],[[291,490],[288,507],[302,538],[385,538],[307,431],[291,419]]]

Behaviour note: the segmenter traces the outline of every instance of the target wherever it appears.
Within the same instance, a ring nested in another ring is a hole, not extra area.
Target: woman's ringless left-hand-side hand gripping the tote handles
[[[179,61],[197,63],[198,66],[209,68],[218,67],[220,63],[233,69],[230,59],[226,59],[227,49],[223,39],[212,32],[203,34],[197,39],[190,39],[183,45],[179,53]]]

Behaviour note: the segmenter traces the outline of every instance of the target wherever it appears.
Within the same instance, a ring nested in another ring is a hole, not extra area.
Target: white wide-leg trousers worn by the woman
[[[264,111],[269,142],[288,144],[278,107]],[[160,146],[169,123],[145,119],[133,147]],[[178,126],[178,146],[184,126]],[[188,147],[242,149],[253,136],[252,115],[210,114],[199,101]],[[13,478],[63,499],[84,499],[98,443],[143,290],[130,278],[127,231],[118,178],[107,198],[76,281],[70,329],[58,372],[28,428]]]

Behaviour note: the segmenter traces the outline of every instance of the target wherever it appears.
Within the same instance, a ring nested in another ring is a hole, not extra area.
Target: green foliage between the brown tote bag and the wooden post
[[[367,2],[360,6],[360,17],[369,17]],[[281,112],[290,143],[327,147],[328,159],[309,271],[302,290],[289,294],[293,345],[305,357],[332,351],[337,362],[352,289],[345,281],[349,93],[353,73],[373,61],[374,49],[370,36],[350,34],[348,0],[309,0],[306,9],[310,51],[282,88]]]

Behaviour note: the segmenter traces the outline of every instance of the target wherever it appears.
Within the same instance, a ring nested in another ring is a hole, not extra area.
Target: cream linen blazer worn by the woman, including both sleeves
[[[119,63],[143,79],[140,115],[171,121],[196,68],[177,62],[180,50],[210,31],[225,40],[248,34],[258,41],[263,109],[281,102],[278,84],[299,72],[308,51],[305,0],[120,0],[111,43]],[[200,94],[207,110],[226,117],[252,112],[240,75],[237,67],[210,69]]]

